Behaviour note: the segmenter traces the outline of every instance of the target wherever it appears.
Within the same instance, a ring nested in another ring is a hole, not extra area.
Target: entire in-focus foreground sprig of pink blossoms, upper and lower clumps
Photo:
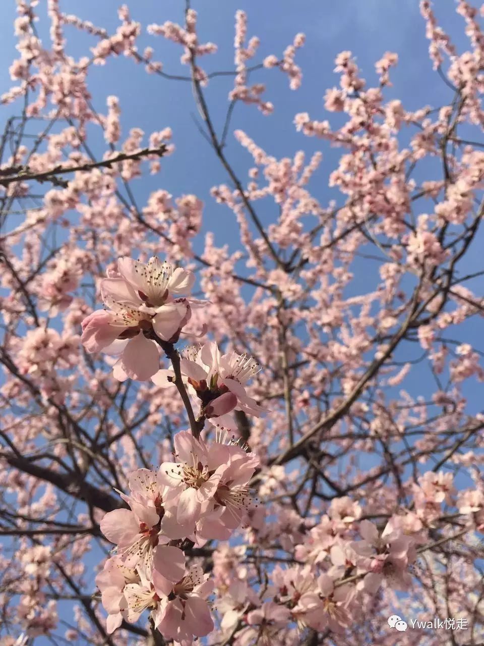
[[[151,378],[162,388],[187,387],[201,401],[197,423],[210,419],[236,428],[234,409],[263,412],[244,385],[259,370],[254,359],[221,354],[215,342],[187,348],[175,360],[171,354],[192,307],[205,304],[190,298],[193,284],[191,271],[155,256],[147,264],[120,258],[117,271],[108,271],[99,285],[108,309],[83,320],[81,342],[90,353],[103,350],[116,357],[116,379]],[[172,359],[170,370],[159,370],[161,349]],[[132,472],[130,493],[118,492],[129,508],[108,512],[101,521],[101,531],[116,544],[116,556],[96,578],[108,632],[123,619],[137,621],[146,609],[154,627],[183,646],[213,629],[206,599],[214,583],[200,565],[187,565],[185,552],[228,539],[247,516],[248,483],[259,461],[245,448],[227,431],[206,443],[196,426],[174,436],[174,461],[163,462],[157,472]]]

